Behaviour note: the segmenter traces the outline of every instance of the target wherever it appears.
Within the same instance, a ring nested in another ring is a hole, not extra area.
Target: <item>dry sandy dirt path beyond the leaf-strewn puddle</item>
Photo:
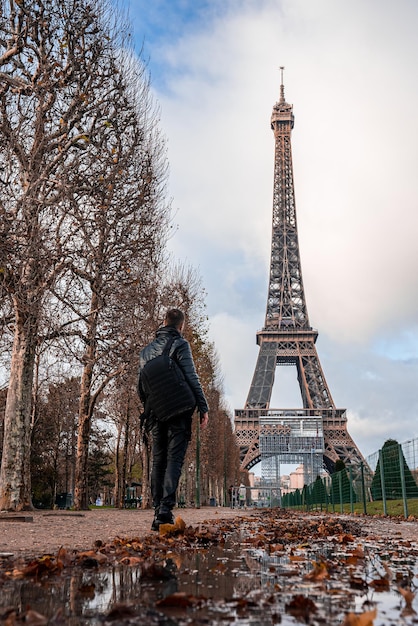
[[[202,507],[177,509],[186,525],[197,526],[214,519],[233,519],[260,515],[260,510]],[[286,513],[289,515],[289,513]],[[308,514],[294,513],[295,517]],[[318,514],[319,515],[319,514]],[[321,513],[327,517],[348,517]],[[278,511],[280,517],[280,511]],[[98,540],[106,543],[115,537],[143,537],[151,533],[151,510],[95,509],[72,511],[33,511],[21,515],[0,515],[0,558],[19,559],[56,554],[63,546],[68,550],[87,550]],[[351,517],[353,519],[353,517]],[[375,537],[418,541],[418,521],[390,518],[354,517],[362,532]],[[10,556],[7,556],[10,555]],[[1,557],[2,555],[2,557]]]

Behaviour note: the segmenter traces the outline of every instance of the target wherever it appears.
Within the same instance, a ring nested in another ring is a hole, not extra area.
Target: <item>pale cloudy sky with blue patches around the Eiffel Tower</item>
[[[418,437],[416,0],[118,1],[168,141],[170,247],[202,276],[231,410],[244,407],[264,325],[283,65],[328,385],[364,455]],[[277,368],[272,406],[302,406],[295,368]]]

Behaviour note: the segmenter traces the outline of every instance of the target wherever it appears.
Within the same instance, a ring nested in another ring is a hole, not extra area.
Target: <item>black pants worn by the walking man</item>
[[[151,493],[154,509],[168,513],[176,503],[184,457],[192,434],[193,411],[152,427]]]

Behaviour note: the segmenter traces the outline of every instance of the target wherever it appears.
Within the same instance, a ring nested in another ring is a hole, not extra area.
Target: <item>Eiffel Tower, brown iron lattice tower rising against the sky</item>
[[[235,433],[242,469],[251,469],[262,460],[262,448],[267,445],[267,455],[277,454],[286,462],[306,460],[314,450],[321,469],[332,473],[338,460],[349,466],[364,459],[347,431],[346,410],[334,404],[315,347],[318,332],[309,323],[296,223],[293,105],[284,97],[283,69],[280,99],[271,116],[275,158],[266,318],[264,328],[257,332],[260,350],[245,408],[235,411]],[[303,409],[270,408],[278,365],[296,366]]]

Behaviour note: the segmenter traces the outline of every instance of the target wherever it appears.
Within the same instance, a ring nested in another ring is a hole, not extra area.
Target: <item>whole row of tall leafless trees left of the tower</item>
[[[165,144],[123,19],[106,0],[0,4],[0,509],[32,507],[43,439],[75,507],[88,507],[91,442],[105,423],[122,505],[133,472],[147,493],[137,355],[165,306],[186,310],[211,408],[230,424],[196,310],[203,290],[167,269]]]

